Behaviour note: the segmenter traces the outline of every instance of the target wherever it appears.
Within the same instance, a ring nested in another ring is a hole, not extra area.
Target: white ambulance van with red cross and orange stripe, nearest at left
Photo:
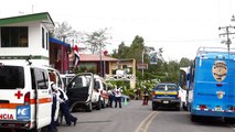
[[[51,123],[52,90],[49,72],[57,73],[45,66],[0,63],[1,130],[10,128],[36,132]],[[64,87],[62,79],[56,85]]]

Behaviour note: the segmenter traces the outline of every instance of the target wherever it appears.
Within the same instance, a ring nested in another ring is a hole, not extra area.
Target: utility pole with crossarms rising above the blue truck
[[[220,36],[226,36],[226,41],[223,41],[222,43],[225,43],[227,45],[227,51],[229,52],[229,45],[232,44],[229,35],[235,34],[235,32],[232,32],[232,30],[235,30],[235,26],[220,26],[218,30],[225,31],[225,33],[221,33]]]

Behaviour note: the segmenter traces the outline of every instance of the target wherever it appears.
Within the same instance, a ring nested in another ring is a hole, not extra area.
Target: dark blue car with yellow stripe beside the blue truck
[[[181,98],[177,84],[158,84],[152,91],[152,110],[159,107],[174,107],[181,109]]]

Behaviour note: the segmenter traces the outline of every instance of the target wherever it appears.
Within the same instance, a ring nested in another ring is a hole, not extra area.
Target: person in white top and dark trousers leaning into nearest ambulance
[[[65,117],[66,125],[70,127],[72,122],[74,122],[74,125],[76,125],[77,118],[73,117],[70,112],[68,98],[66,94],[61,88],[56,87],[55,85],[52,85],[52,88],[54,92],[56,92],[57,95],[57,100],[60,102],[62,114]]]

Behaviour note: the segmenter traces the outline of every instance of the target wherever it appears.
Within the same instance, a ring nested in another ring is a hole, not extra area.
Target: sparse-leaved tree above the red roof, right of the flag
[[[95,32],[86,33],[84,37],[84,43],[87,44],[88,50],[92,54],[99,54],[100,50],[108,44],[108,40],[110,37],[107,36],[107,29],[98,30]]]

